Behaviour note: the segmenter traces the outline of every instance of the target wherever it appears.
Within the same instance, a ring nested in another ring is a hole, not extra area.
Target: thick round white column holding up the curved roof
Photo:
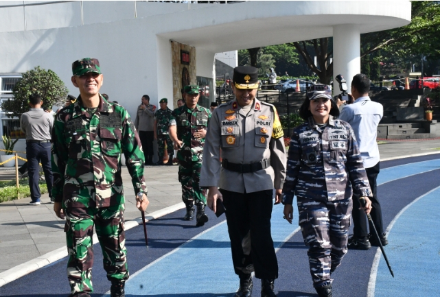
[[[340,94],[334,78],[341,74],[347,80],[350,93],[351,80],[360,73],[360,30],[358,25],[345,24],[333,27],[333,86],[334,95]]]

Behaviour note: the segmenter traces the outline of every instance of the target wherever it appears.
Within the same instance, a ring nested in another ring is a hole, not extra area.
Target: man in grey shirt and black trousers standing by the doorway
[[[143,95],[137,108],[135,127],[139,132],[146,165],[153,165],[154,112],[156,106],[150,104],[150,96]]]

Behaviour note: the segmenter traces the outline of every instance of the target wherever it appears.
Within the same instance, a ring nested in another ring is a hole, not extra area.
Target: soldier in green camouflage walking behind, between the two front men
[[[200,94],[198,86],[183,88],[185,105],[172,112],[170,137],[174,150],[178,150],[178,180],[182,184],[182,200],[187,206],[186,220],[194,218],[197,205],[196,226],[208,222],[205,214],[206,190],[200,189],[203,145],[211,112],[197,104]]]

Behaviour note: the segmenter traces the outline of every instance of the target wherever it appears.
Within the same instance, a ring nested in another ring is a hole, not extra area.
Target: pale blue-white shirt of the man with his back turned
[[[382,104],[373,102],[366,96],[359,97],[353,104],[344,106],[338,117],[347,121],[353,128],[365,168],[373,167],[380,160],[376,137],[379,121],[383,115]]]

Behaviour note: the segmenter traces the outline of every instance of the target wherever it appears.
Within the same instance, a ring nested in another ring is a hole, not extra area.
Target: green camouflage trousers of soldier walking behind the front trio
[[[182,200],[196,205],[206,205],[206,190],[200,189],[200,170],[202,161],[192,161],[191,157],[185,158],[185,153],[177,152],[178,181],[182,184]]]

